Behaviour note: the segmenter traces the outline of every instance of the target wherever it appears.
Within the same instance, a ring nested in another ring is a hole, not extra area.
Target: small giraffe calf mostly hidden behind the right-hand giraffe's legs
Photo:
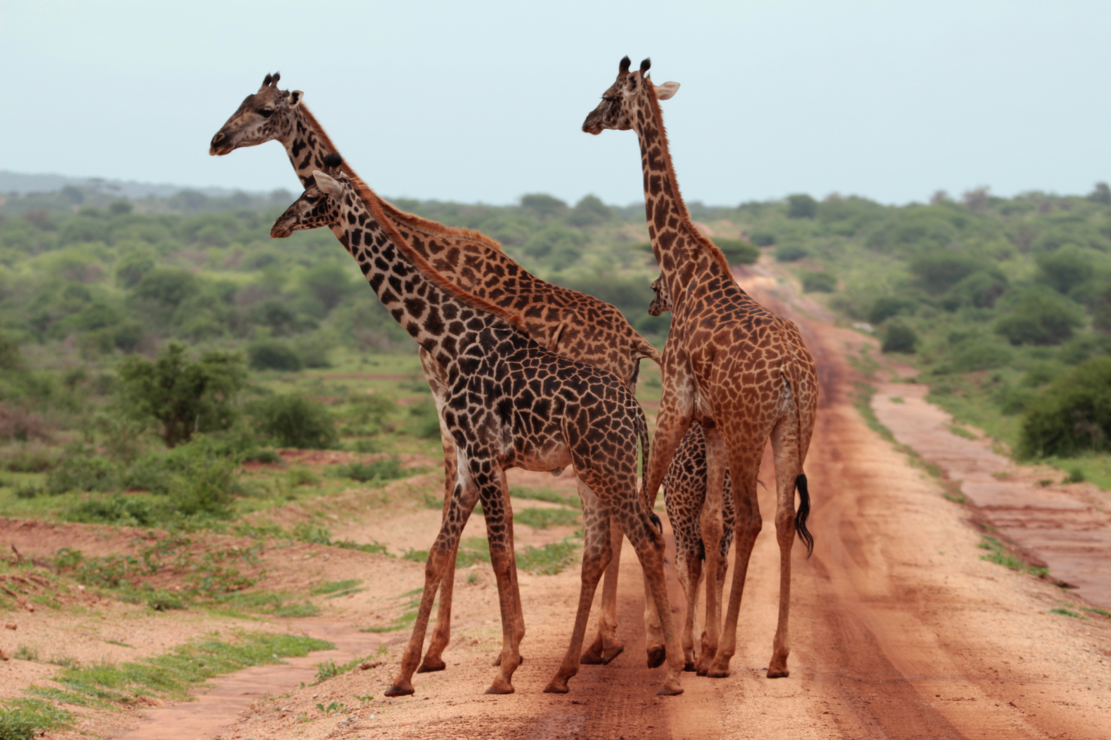
[[[671,298],[663,281],[657,277],[652,281],[655,295],[648,307],[648,313],[659,316],[671,311]],[[668,507],[668,520],[675,533],[675,570],[679,572],[679,585],[683,587],[687,597],[687,615],[680,631],[683,645],[683,670],[695,670],[694,633],[698,631],[698,589],[702,582],[702,561],[705,560],[705,544],[702,541],[701,518],[705,504],[705,435],[698,422],[691,422],[690,429],[683,435],[679,448],[675,449],[668,474],[663,477],[663,501]],[[727,558],[729,546],[733,543],[733,494],[729,483],[729,470],[722,485],[721,497],[722,531],[718,543],[717,579],[707,578],[707,599],[710,590],[717,594],[725,584],[728,570]],[[703,673],[704,675],[704,673]]]

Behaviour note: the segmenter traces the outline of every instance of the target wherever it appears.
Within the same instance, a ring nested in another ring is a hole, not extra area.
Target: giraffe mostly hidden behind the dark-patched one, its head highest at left
[[[324,158],[338,151],[323,126],[304,105],[304,93],[278,88],[280,75],[267,74],[258,92],[248,95],[227,123],[212,136],[209,153],[228,154],[244,146],[278,141],[286,148],[298,179],[306,185],[314,170],[323,166]],[[357,187],[362,184],[354,171],[342,165]],[[571,359],[610,371],[635,392],[640,361],[648,357],[659,364],[658,349],[629,325],[614,306],[578,291],[547,283],[513,262],[493,240],[466,229],[451,229],[434,221],[399,211],[378,199],[387,220],[432,266],[468,293],[519,314],[524,331],[542,346]],[[421,366],[432,388],[437,407],[442,407],[444,381],[442,372],[421,349]],[[443,443],[444,490],[443,513],[456,485],[456,450],[451,436],[441,425]],[[558,473],[553,470],[553,473]],[[612,536],[621,536],[614,520]],[[620,543],[620,539],[615,541]],[[620,567],[620,545],[605,572],[602,587],[602,614],[598,636],[582,656],[584,663],[608,663],[624,646],[617,637],[617,578]],[[451,639],[451,601],[454,587],[456,555],[452,554],[448,576],[440,586],[440,606],[436,629],[420,672],[446,668],[442,655]],[[647,600],[648,604],[651,600]],[[645,612],[649,632],[649,666],[663,660],[663,637],[654,615]],[[523,620],[520,625],[523,630]],[[523,637],[523,631],[522,635]]]

